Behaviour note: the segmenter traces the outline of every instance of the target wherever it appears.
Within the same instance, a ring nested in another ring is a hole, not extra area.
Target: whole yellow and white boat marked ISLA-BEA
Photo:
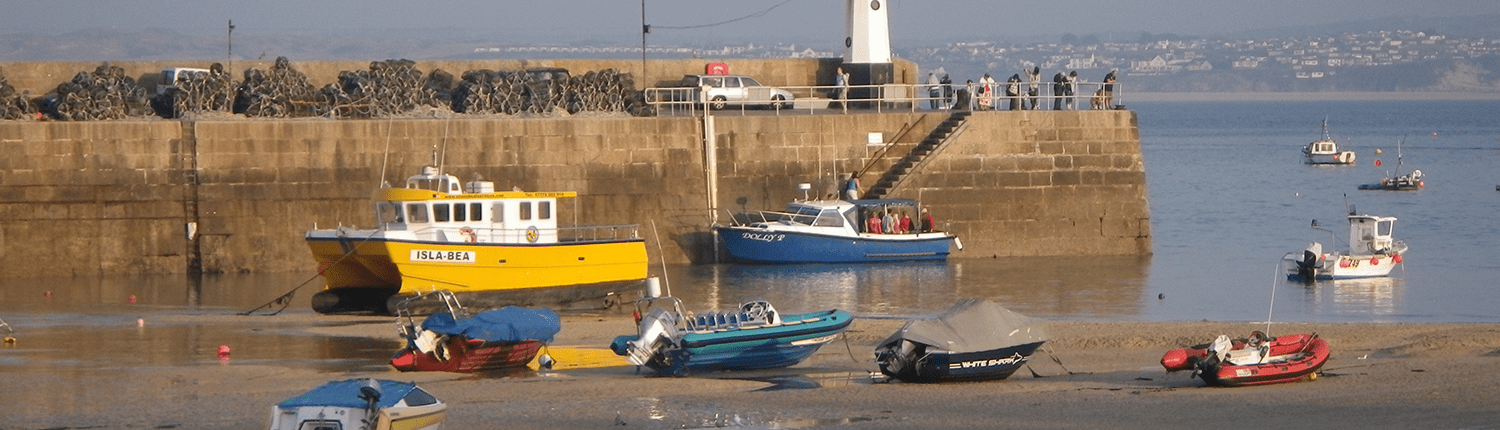
[[[646,249],[639,226],[558,226],[558,199],[576,196],[495,192],[480,180],[460,187],[453,175],[424,166],[405,187],[375,192],[374,229],[308,231],[327,282],[312,307],[394,313],[396,303],[434,289],[483,309],[564,307],[608,304],[640,289]]]

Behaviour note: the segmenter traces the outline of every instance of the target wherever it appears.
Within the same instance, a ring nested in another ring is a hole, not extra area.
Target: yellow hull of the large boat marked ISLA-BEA
[[[435,289],[484,307],[603,303],[609,292],[639,289],[646,277],[644,240],[501,244],[364,238],[370,235],[308,234],[327,282],[315,310],[392,312],[387,301]]]

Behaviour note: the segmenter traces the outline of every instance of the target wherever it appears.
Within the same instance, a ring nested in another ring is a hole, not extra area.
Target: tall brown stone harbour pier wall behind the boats
[[[310,271],[308,229],[370,226],[381,180],[434,151],[462,180],[576,190],[562,220],[639,223],[652,261],[712,262],[716,211],[831,193],[870,133],[920,141],[945,117],[714,115],[716,202],[693,117],[0,121],[0,277]],[[954,258],[1150,252],[1131,111],[975,112],[891,196],[957,232]]]

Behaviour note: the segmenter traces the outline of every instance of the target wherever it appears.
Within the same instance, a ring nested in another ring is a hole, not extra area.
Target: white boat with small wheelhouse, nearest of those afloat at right
[[[1396,264],[1404,261],[1406,241],[1392,238],[1396,217],[1356,214],[1348,216],[1348,249],[1323,252],[1323,244],[1314,241],[1300,253],[1287,253],[1282,259],[1293,262],[1287,279],[1311,282],[1314,279],[1356,279],[1389,276]],[[1312,220],[1314,229],[1322,229]],[[1334,232],[1329,231],[1332,235]]]

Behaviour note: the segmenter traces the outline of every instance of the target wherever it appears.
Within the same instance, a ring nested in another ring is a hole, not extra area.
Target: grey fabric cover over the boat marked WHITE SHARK
[[[958,300],[944,315],[906,322],[902,330],[897,330],[896,334],[880,342],[880,346],[910,340],[930,348],[962,354],[1046,342],[1048,339],[1047,327],[1040,319],[1014,313],[990,300],[964,298]]]

